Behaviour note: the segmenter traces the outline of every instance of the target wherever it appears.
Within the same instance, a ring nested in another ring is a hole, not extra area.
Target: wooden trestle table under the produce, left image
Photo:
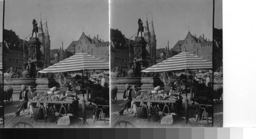
[[[61,112],[61,109],[64,108],[65,110],[65,114],[67,115],[67,111],[66,111],[66,107],[63,106],[63,104],[72,104],[74,101],[76,100],[73,100],[73,101],[42,101],[42,100],[29,100],[30,103],[39,103],[39,109],[42,108],[43,109],[43,112],[44,112],[44,118],[45,118],[45,122],[47,123],[47,120],[46,120],[46,114],[45,114],[45,107],[44,107],[44,104],[42,103],[46,103],[46,104],[61,104],[60,106],[60,109],[59,109],[59,114],[58,114],[58,117],[57,119],[59,118],[59,115],[60,115],[60,112]],[[50,105],[50,108],[54,109],[53,105]],[[54,109],[55,111],[55,109]],[[36,118],[38,116],[38,113],[39,113],[39,110],[37,112],[37,115],[36,115]],[[47,114],[48,114],[48,111],[47,111]],[[56,121],[57,122],[57,121]]]

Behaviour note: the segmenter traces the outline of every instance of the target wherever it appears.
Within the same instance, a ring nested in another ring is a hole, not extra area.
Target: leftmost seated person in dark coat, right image
[[[128,107],[129,106],[131,107],[132,89],[130,89],[130,88],[131,88],[131,86],[129,84],[125,85],[125,91],[123,92],[124,102],[122,103],[122,108],[119,111],[119,115],[123,115],[123,111],[124,111],[124,108],[126,107],[126,104],[127,104]]]

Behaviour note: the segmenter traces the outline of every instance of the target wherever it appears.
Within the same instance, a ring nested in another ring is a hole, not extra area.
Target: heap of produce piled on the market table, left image
[[[74,100],[73,96],[64,96],[63,94],[41,94],[33,98],[33,100],[39,101],[72,101]]]

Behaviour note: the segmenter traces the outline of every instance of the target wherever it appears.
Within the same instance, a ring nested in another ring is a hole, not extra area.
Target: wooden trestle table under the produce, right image
[[[179,99],[176,99],[176,100],[141,100],[141,99],[133,99],[134,102],[150,102],[150,103],[164,103],[164,107],[163,107],[163,111],[162,111],[162,114],[161,114],[161,117],[160,117],[160,120],[159,122],[161,122],[161,119],[162,119],[162,116],[163,116],[163,112],[164,112],[164,109],[167,107],[168,109],[168,113],[170,114],[170,110],[169,110],[169,107],[166,103],[177,103],[178,101],[182,100],[183,98],[179,98]],[[142,105],[142,110],[143,108],[146,108],[146,113],[147,113],[147,117],[148,117],[148,121],[150,121],[150,116],[148,115],[148,110],[147,110],[147,104],[143,104]],[[177,108],[176,108],[177,109]],[[139,118],[141,117],[141,114],[140,113],[140,116]]]

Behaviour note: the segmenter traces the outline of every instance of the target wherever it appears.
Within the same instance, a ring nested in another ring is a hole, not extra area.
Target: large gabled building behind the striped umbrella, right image
[[[172,48],[173,51],[178,53],[186,50],[193,54],[197,54],[206,59],[212,60],[212,41],[207,40],[200,35],[199,38],[190,34],[186,35],[184,40],[179,40]]]

